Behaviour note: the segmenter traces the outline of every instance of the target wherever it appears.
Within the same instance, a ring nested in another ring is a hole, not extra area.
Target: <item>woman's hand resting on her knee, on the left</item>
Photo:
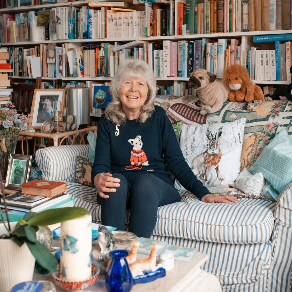
[[[107,173],[98,173],[95,175],[95,178],[93,180],[94,185],[97,189],[97,192],[101,198],[107,199],[109,196],[104,193],[114,193],[117,190],[112,189],[112,187],[119,187],[120,180],[119,178],[114,178],[112,177],[112,174],[107,172]]]

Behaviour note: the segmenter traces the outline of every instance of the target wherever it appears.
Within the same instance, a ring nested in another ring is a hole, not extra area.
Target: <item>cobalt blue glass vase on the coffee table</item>
[[[105,275],[105,287],[109,292],[128,292],[133,287],[133,277],[126,260],[128,252],[124,250],[111,251],[112,257],[109,269]]]

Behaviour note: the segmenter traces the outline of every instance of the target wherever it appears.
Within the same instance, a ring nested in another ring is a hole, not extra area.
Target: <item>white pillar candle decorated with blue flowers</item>
[[[60,278],[85,281],[91,277],[91,215],[61,223]]]

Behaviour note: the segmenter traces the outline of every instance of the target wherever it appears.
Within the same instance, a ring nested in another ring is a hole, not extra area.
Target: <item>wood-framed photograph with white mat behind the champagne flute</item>
[[[61,101],[61,117],[63,119],[66,89],[35,89],[34,97],[32,100],[31,114],[33,114],[32,122],[29,124],[29,128],[40,129],[44,121],[53,120],[53,101]]]

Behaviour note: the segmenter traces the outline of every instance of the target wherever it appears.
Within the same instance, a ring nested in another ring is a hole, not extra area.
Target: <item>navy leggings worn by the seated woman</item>
[[[114,173],[113,177],[121,180],[117,191],[107,193],[108,199],[97,195],[97,201],[101,204],[102,224],[125,230],[126,208],[131,206],[129,231],[138,237],[150,238],[158,207],[179,202],[179,192],[150,173],[141,174],[134,184],[128,183],[121,174]]]

